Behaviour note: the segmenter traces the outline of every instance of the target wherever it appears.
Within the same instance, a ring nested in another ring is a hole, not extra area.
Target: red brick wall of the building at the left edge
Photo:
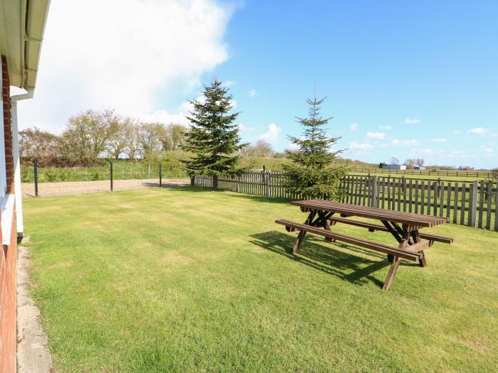
[[[1,56],[1,99],[4,110],[5,158],[7,172],[7,193],[14,193],[14,171],[12,157],[11,107],[9,92],[9,75],[7,63]],[[15,207],[12,214],[11,244],[0,249],[0,372],[16,372],[16,264],[17,264],[17,229]],[[0,216],[1,219],[6,217]],[[1,240],[1,232],[0,232]]]

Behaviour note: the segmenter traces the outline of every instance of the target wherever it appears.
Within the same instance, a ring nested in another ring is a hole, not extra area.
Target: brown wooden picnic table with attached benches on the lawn
[[[435,241],[447,244],[453,242],[453,239],[448,237],[419,232],[422,228],[445,224],[448,221],[447,217],[418,215],[328,200],[303,200],[294,201],[291,204],[300,206],[302,212],[309,212],[304,224],[290,222],[289,220],[275,221],[277,224],[285,225],[288,232],[299,231],[294,247],[292,248],[293,254],[299,249],[307,232],[322,235],[327,242],[337,240],[383,252],[387,254],[388,261],[391,263],[388,276],[383,284],[383,290],[388,290],[391,287],[401,259],[418,261],[420,266],[427,266],[424,249],[432,246]],[[336,217],[333,215],[336,215]],[[340,215],[340,217],[337,217],[337,215]],[[379,220],[382,222],[382,225],[347,219],[349,217]],[[370,232],[375,232],[376,230],[389,232],[398,242],[398,247],[332,232],[331,226],[337,223],[368,228]]]

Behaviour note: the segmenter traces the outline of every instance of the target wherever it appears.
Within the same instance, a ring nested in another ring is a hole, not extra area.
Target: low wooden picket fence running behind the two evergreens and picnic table
[[[210,176],[196,175],[193,185],[212,187]],[[275,171],[246,171],[218,178],[218,188],[267,197],[300,199],[285,188]],[[391,176],[346,175],[342,202],[388,210],[448,217],[454,224],[498,231],[498,183],[491,180],[423,180]]]

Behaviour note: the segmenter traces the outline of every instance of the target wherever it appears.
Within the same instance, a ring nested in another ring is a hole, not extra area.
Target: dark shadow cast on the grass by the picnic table
[[[366,283],[364,280],[369,280],[377,286],[382,287],[383,282],[371,276],[371,274],[379,269],[387,269],[390,265],[386,255],[371,252],[370,250],[363,250],[341,242],[334,242],[333,244],[327,243],[327,245],[337,245],[350,252],[376,256],[381,260],[372,262],[370,259],[342,252],[334,247],[325,247],[322,245],[324,243],[323,239],[310,235],[307,235],[304,238],[297,254],[291,253],[296,238],[289,234],[270,231],[251,234],[250,237],[253,238],[253,240],[250,241],[252,244],[351,283],[363,284]],[[318,244],[318,242],[321,244]]]

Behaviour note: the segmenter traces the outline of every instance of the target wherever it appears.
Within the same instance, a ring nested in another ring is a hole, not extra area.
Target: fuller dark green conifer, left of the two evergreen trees
[[[194,105],[191,116],[187,117],[191,129],[182,148],[194,153],[185,161],[187,170],[192,175],[211,175],[216,190],[219,175],[240,171],[238,151],[245,144],[239,144],[238,125],[233,124],[239,113],[228,114],[233,107],[228,88],[215,79],[204,86],[203,95],[203,102],[190,100]]]

